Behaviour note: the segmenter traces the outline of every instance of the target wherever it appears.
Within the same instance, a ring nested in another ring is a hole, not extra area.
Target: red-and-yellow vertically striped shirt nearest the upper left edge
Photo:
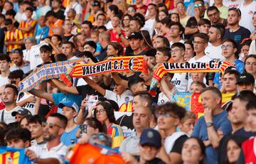
[[[23,40],[23,34],[20,30],[14,29],[13,31],[6,31],[4,41],[19,41]],[[7,52],[10,52],[13,49],[21,48],[21,45],[11,44],[7,46]]]

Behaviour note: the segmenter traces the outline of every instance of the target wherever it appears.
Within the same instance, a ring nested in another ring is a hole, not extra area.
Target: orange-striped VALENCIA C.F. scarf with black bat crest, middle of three
[[[110,72],[142,72],[143,56],[113,57],[94,64],[79,64],[73,67],[71,77],[88,77]]]

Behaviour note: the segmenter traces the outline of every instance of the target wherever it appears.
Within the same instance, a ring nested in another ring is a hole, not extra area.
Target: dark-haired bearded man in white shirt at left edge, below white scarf
[[[1,100],[5,104],[5,109],[0,111],[0,119],[6,124],[15,122],[14,116],[11,115],[13,111],[18,111],[21,106],[16,105],[18,97],[18,89],[13,84],[6,84],[4,92],[1,94]]]

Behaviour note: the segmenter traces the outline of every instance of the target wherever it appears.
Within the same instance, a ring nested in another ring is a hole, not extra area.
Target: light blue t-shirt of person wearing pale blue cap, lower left
[[[78,131],[79,125],[75,126],[75,128],[70,132],[64,132],[60,137],[60,141],[64,143],[65,146],[74,145],[78,143],[78,138],[75,136],[75,133]]]

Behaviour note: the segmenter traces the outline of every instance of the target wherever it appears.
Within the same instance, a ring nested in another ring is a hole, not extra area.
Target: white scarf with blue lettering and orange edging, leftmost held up
[[[82,60],[68,60],[64,62],[54,62],[48,65],[43,65],[36,68],[19,84],[19,92],[28,92],[34,87],[38,86],[44,80],[53,78],[60,78],[61,74],[67,75],[75,63],[82,62]]]

